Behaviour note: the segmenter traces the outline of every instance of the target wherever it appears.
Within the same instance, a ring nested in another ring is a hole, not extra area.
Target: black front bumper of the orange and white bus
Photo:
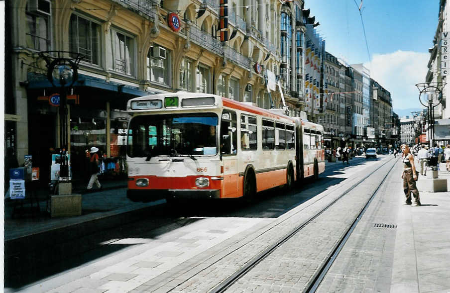
[[[192,190],[192,189],[146,189],[127,190],[126,197],[131,201],[148,202],[161,198],[168,199],[213,199],[221,198],[220,190]]]

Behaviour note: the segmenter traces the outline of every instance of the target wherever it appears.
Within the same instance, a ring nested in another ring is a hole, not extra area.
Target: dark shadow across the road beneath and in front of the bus
[[[278,217],[345,180],[335,177],[344,174],[340,170],[364,163],[365,159],[358,158],[350,160],[350,165],[339,162],[330,164],[317,181],[305,179],[289,192],[282,188],[264,191],[249,203],[243,200],[214,200],[160,204],[7,241],[4,247],[4,286],[13,289],[26,286],[140,244],[122,241],[127,238],[148,242],[202,220],[201,217]],[[101,210],[104,211],[104,208]],[[91,207],[83,212],[96,211],[97,208]],[[39,221],[38,218],[33,219],[36,220]]]

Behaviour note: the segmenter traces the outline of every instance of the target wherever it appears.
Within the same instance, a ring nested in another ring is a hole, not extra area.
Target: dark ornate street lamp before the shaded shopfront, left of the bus
[[[67,96],[66,89],[73,86],[78,79],[78,64],[83,56],[80,53],[67,51],[44,51],[39,56],[45,60],[47,66],[47,80],[53,87],[60,87],[59,93],[59,125],[61,163],[59,181],[69,181],[69,164],[67,159]],[[66,57],[65,57],[66,56]]]

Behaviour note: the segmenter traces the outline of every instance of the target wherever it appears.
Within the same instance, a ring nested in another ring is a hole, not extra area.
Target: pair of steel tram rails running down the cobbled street
[[[325,211],[327,211],[330,207],[332,207],[336,202],[338,202],[342,197],[344,197],[350,191],[355,189],[360,183],[362,183],[363,181],[367,180],[375,172],[379,171],[381,168],[383,168],[387,164],[391,163],[393,160],[394,160],[394,158],[389,159],[387,162],[383,163],[381,166],[377,167],[375,170],[373,170],[372,172],[368,173],[366,176],[364,176],[363,178],[358,180],[356,183],[353,183],[344,192],[342,192],[340,195],[338,195],[336,198],[334,198],[330,203],[325,205],[325,207],[321,208],[314,215],[312,215],[311,217],[307,218],[302,223],[300,223],[297,227],[295,227],[293,230],[291,230],[291,232],[285,234],[283,237],[279,238],[274,244],[270,245],[269,247],[264,249],[262,252],[260,252],[258,255],[253,257],[250,261],[248,261],[245,264],[245,266],[243,266],[238,271],[234,272],[231,276],[226,278],[223,282],[221,282],[218,286],[216,286],[210,292],[211,293],[225,292],[228,288],[230,288],[233,284],[235,284],[238,280],[240,280],[241,278],[243,278],[243,276],[245,276],[248,272],[250,272],[254,267],[256,267],[260,262],[262,262],[264,259],[266,259],[277,248],[282,246],[286,241],[288,241],[290,238],[292,238],[294,235],[296,235],[299,231],[301,231],[303,228],[305,228],[308,224],[310,224],[316,218],[318,218],[320,215],[322,215]],[[393,169],[394,166],[395,166],[395,160],[394,160],[394,164],[392,164],[392,166],[390,167],[389,172],[387,172],[386,176],[383,178],[383,180],[378,185],[376,190],[373,192],[373,194],[370,196],[370,198],[364,204],[364,206],[362,207],[362,209],[360,210],[358,215],[355,217],[353,223],[345,231],[345,233],[343,233],[343,236],[338,240],[337,245],[335,245],[332,248],[333,253],[327,258],[327,260],[324,262],[322,267],[319,270],[316,271],[316,274],[313,276],[313,278],[310,280],[310,282],[308,282],[308,285],[306,286],[306,288],[308,288],[308,289],[306,291],[304,291],[304,292],[315,292],[315,290],[317,289],[318,285],[320,284],[320,282],[325,277],[328,269],[333,264],[333,261],[336,259],[340,249],[345,244],[346,239],[348,239],[349,235],[351,234],[351,231],[353,231],[353,229],[356,226],[356,224],[358,223],[360,217],[365,212],[367,207],[370,205],[370,202],[372,201],[373,197],[377,194],[379,188],[383,185],[383,183],[385,182],[387,176],[390,174],[390,172],[391,172],[391,170]],[[327,193],[327,194],[330,194],[330,193],[332,193],[335,190],[337,190],[337,188],[330,190],[329,193]],[[317,201],[321,200],[325,196],[327,196],[327,195],[324,195],[321,198],[318,198],[314,202],[317,202]],[[314,202],[310,203],[308,206],[311,206],[312,204],[314,204]],[[300,212],[300,211],[298,211],[298,212]],[[282,222],[283,221],[281,221],[277,225],[280,225]],[[274,227],[272,227],[272,228],[274,228]]]

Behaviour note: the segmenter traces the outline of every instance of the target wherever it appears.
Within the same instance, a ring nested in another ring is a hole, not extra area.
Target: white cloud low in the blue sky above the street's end
[[[371,78],[391,93],[393,107],[406,109],[422,107],[416,84],[425,82],[429,53],[396,51],[374,54],[372,62],[364,63]]]

